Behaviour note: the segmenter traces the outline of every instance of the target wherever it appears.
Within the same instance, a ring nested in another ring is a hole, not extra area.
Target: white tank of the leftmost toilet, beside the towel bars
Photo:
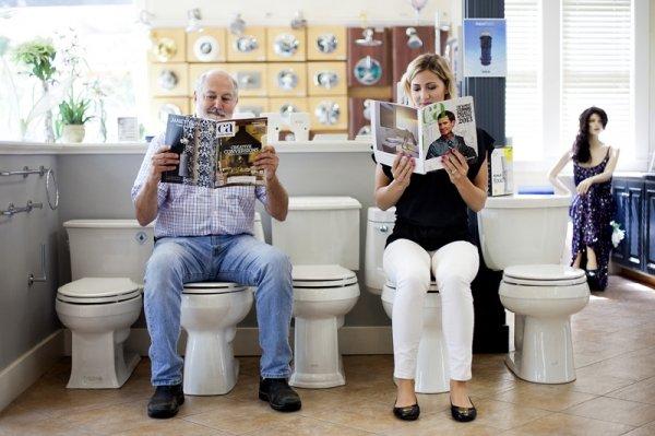
[[[129,278],[143,283],[153,251],[153,224],[136,220],[72,220],[63,223],[69,238],[71,274],[82,278]]]

